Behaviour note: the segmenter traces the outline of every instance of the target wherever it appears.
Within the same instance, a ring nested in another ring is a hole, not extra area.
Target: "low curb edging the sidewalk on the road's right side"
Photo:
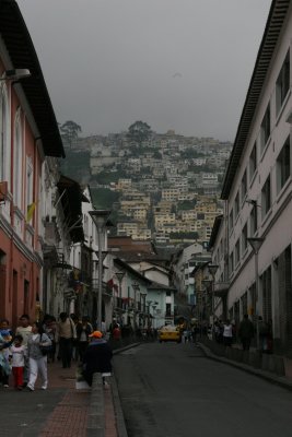
[[[207,346],[205,346],[202,343],[198,343],[198,346],[200,347],[200,350],[205,353],[207,358],[223,363],[223,364],[227,364],[229,366],[235,367],[240,370],[246,371],[248,374],[252,374],[254,376],[257,376],[261,379],[265,379],[271,383],[275,383],[277,386],[280,386],[287,390],[292,391],[292,381],[288,380],[284,377],[280,377],[280,376],[275,376],[272,374],[270,374],[269,371],[266,370],[259,370],[259,369],[255,369],[250,366],[247,366],[246,364],[241,364],[237,362],[233,362],[231,359],[227,358],[223,358],[220,357],[218,355],[214,355]]]

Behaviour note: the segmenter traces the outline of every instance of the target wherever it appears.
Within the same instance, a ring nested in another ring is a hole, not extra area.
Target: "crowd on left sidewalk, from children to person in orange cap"
[[[87,317],[72,317],[67,312],[55,317],[46,315],[43,322],[31,324],[30,317],[22,315],[13,333],[9,321],[0,321],[0,383],[9,387],[13,380],[16,390],[34,391],[37,377],[40,388],[48,387],[47,364],[57,359],[63,368],[75,359],[82,367],[84,378],[92,383],[94,371],[105,375],[112,371],[112,349],[102,331],[94,331]],[[117,327],[115,327],[117,330]],[[116,335],[117,334],[117,331]],[[10,376],[12,375],[12,378]]]

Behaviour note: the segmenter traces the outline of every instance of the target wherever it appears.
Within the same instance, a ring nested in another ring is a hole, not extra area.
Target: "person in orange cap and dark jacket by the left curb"
[[[89,335],[91,342],[83,355],[83,376],[89,386],[92,386],[93,374],[98,373],[103,376],[112,373],[113,351],[101,331],[94,331]]]

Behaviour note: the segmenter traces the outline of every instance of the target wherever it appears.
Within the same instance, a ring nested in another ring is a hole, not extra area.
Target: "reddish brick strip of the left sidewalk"
[[[42,427],[39,437],[85,437],[90,410],[90,390],[75,390],[75,366],[61,368],[48,365],[49,389],[63,388],[65,394]],[[116,417],[110,386],[104,391],[105,437],[117,437]]]

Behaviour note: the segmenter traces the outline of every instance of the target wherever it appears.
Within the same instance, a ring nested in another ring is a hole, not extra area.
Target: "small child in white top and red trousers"
[[[14,388],[16,390],[23,389],[23,373],[24,364],[27,355],[27,347],[23,345],[23,336],[16,334],[14,341],[10,347],[12,355],[12,375],[14,380]]]

